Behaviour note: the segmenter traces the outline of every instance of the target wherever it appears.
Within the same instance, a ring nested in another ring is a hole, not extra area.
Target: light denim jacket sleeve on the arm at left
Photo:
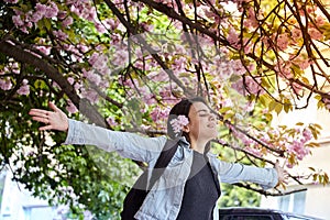
[[[157,157],[166,142],[166,136],[146,138],[129,132],[111,131],[69,119],[69,128],[64,144],[95,145],[107,152],[118,152],[121,156],[150,163]]]

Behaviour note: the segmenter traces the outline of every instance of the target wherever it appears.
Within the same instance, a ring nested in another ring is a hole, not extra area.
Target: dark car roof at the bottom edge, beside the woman
[[[221,208],[220,220],[321,220],[296,213],[262,208]]]

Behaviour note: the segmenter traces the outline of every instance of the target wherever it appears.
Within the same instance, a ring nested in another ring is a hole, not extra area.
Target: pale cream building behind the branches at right
[[[324,109],[317,109],[317,100],[310,100],[308,108],[283,113],[276,117],[275,123],[288,127],[297,122],[318,123],[322,127],[320,138],[316,140],[319,147],[312,148],[300,162],[298,167],[287,168],[293,175],[310,173],[309,167],[330,174],[330,112]],[[304,182],[304,179],[301,179]],[[330,219],[330,185],[323,186],[318,183],[305,182],[305,185],[289,184],[286,193],[297,191],[283,197],[263,197],[261,206],[275,208],[283,211],[290,211],[314,216],[322,219]]]

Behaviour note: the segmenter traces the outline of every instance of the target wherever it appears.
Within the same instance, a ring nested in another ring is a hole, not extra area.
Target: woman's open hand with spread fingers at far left
[[[53,102],[50,102],[48,106],[53,111],[47,111],[43,109],[31,109],[29,114],[32,116],[32,119],[34,121],[43,122],[46,124],[44,127],[41,127],[38,129],[40,131],[58,130],[66,132],[68,130],[67,116]]]

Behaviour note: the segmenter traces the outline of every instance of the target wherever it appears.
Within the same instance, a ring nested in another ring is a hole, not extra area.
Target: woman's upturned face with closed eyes
[[[189,110],[188,133],[195,141],[210,141],[218,135],[217,117],[202,102],[194,102]]]

